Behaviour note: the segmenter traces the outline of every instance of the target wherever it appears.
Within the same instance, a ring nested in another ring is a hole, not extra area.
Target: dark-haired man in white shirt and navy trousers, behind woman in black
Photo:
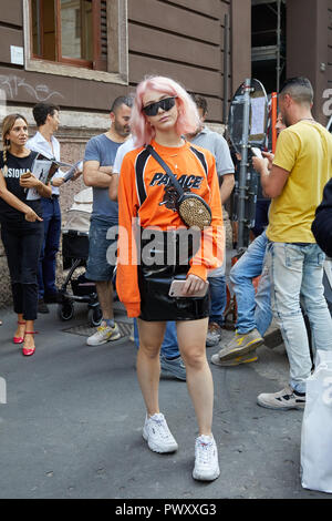
[[[51,103],[38,103],[32,113],[38,132],[31,137],[27,147],[40,152],[48,159],[60,161],[60,143],[54,137],[60,124],[60,109]],[[61,170],[54,174],[51,181],[52,197],[42,197],[44,242],[39,263],[39,313],[49,313],[46,304],[58,302],[55,286],[55,257],[60,245],[61,211],[59,204],[59,187],[64,183]],[[76,178],[76,176],[75,176]]]

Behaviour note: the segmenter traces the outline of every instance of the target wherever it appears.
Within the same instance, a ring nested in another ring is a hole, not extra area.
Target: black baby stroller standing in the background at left
[[[74,303],[86,303],[89,321],[92,326],[100,326],[102,309],[95,284],[87,280],[84,274],[73,278],[79,267],[86,266],[91,212],[92,188],[85,188],[74,196],[74,203],[68,211],[66,223],[62,228],[63,269],[69,269],[69,273],[59,292],[58,316],[61,320],[71,320],[74,316]]]

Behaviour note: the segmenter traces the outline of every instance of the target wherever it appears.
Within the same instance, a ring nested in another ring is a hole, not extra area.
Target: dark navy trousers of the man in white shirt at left
[[[39,298],[56,293],[55,266],[61,235],[61,211],[59,197],[41,198],[43,208],[44,241],[39,258]]]

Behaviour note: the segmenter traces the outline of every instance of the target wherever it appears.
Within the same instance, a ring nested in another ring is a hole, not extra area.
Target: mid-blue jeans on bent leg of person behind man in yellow
[[[239,334],[257,328],[264,335],[272,320],[270,279],[264,266],[268,244],[266,232],[259,235],[230,270],[230,282],[237,299],[238,318],[236,328]],[[260,277],[257,294],[252,278]]]

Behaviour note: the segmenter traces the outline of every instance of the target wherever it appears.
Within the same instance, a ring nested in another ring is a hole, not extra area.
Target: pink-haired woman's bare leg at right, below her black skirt
[[[206,358],[208,318],[177,323],[179,350],[186,365],[187,387],[194,403],[199,435],[211,435],[214,381]]]

